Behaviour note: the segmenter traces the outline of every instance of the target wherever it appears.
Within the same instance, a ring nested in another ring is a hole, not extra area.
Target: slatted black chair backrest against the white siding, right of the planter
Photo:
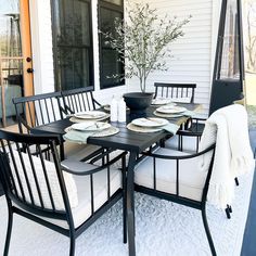
[[[170,98],[170,99],[179,99],[179,102],[182,102],[182,98],[187,103],[194,103],[194,89],[196,88],[196,84],[168,84],[168,82],[155,82],[155,95],[154,98]]]

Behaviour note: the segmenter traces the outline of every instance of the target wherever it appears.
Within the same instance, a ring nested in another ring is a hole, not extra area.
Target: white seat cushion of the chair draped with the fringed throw
[[[169,149],[158,149],[154,153],[163,155],[188,155]],[[200,156],[199,156],[200,157]],[[199,157],[180,161],[179,195],[201,201],[207,172],[199,169]],[[135,182],[153,189],[153,157],[146,157],[138,164]],[[156,158],[156,190],[176,194],[176,161]]]

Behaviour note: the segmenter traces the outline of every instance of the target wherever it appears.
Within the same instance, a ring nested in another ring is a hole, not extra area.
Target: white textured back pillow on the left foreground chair
[[[35,180],[34,174],[33,174],[33,167],[30,164],[29,156],[28,156],[28,154],[25,154],[25,153],[21,153],[21,154],[22,154],[25,169],[27,172],[27,177],[28,177],[28,180],[30,183],[31,194],[34,196],[34,203],[36,205],[40,206],[39,194],[37,192],[36,180]],[[23,170],[23,166],[22,166],[22,163],[20,159],[18,152],[13,150],[13,155],[14,155],[14,159],[16,163],[16,169],[20,174],[20,179],[21,179],[21,182],[24,188],[24,194],[25,194],[26,201],[30,203],[31,201],[30,201],[30,196],[29,196],[29,192],[28,192],[28,188],[27,188],[27,183],[26,183],[26,179],[25,179],[25,175],[24,175],[24,170]],[[11,159],[11,157],[10,157],[10,159]],[[40,187],[43,205],[46,208],[52,208],[51,201],[50,201],[50,194],[48,192],[47,181],[46,181],[46,177],[44,177],[43,169],[42,169],[41,159],[36,156],[31,156],[31,159],[33,159],[33,163],[35,166],[35,170],[37,172],[37,179],[38,179],[38,184]],[[56,176],[55,165],[49,161],[44,161],[43,163],[46,165],[47,176],[48,176],[49,183],[51,187],[52,197],[54,199],[55,208],[62,210],[62,209],[64,209],[64,203],[63,203],[63,197],[62,197],[62,193],[61,193],[61,188],[59,184],[59,179]],[[11,166],[14,179],[17,180],[12,161],[10,162],[10,166]],[[76,207],[78,205],[76,182],[73,178],[73,175],[71,175],[71,174],[63,171],[63,177],[65,180],[65,185],[66,185],[71,207],[72,208]],[[22,199],[22,193],[21,193],[20,187],[17,187],[17,193],[18,193],[20,197]]]

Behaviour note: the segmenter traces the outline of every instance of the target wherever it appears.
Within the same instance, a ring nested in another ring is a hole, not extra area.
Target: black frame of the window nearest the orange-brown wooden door
[[[63,48],[69,48],[69,49],[87,49],[88,50],[88,56],[89,56],[89,86],[86,87],[89,90],[94,90],[94,59],[93,59],[93,29],[92,29],[92,3],[91,0],[82,0],[82,2],[88,3],[88,10],[89,10],[89,37],[90,37],[90,47],[77,47],[77,46],[57,46],[57,30],[60,27],[57,26],[57,17],[55,16],[56,13],[56,4],[60,3],[61,0],[51,0],[51,21],[52,21],[52,53],[53,53],[53,73],[54,73],[54,89],[55,91],[61,91],[63,90],[62,85],[61,85],[61,68],[60,68],[60,60],[57,59],[57,50],[63,49]],[[71,0],[72,4],[74,7],[75,0]],[[78,0],[79,1],[79,0]],[[59,10],[60,12],[60,10]],[[81,87],[84,88],[84,87]],[[69,88],[72,89],[72,88]],[[68,89],[66,89],[68,90]]]

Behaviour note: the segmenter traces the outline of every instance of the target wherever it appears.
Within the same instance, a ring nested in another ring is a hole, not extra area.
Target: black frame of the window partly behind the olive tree
[[[115,12],[119,12],[121,14],[121,18],[125,17],[125,10],[124,10],[124,0],[121,0],[121,4],[118,5],[118,4],[115,4],[115,3],[111,3],[108,1],[104,1],[104,0],[99,0],[99,9],[98,9],[98,26],[99,26],[99,29],[101,29],[101,9],[106,9],[106,10],[110,10],[110,11],[115,11]],[[108,88],[115,88],[115,87],[118,87],[118,86],[124,86],[125,85],[125,77],[124,79],[119,80],[118,82],[114,84],[113,86],[107,86],[107,87],[104,87],[103,86],[103,82],[102,82],[102,76],[103,76],[103,63],[102,63],[102,55],[103,55],[103,46],[102,46],[102,40],[101,40],[101,33],[99,33],[99,74],[100,74],[100,89],[108,89]],[[112,49],[113,51],[115,51],[114,49]],[[120,62],[118,62],[120,63]],[[125,65],[120,63],[120,68],[121,68],[121,72],[125,73]],[[113,74],[114,75],[114,74]]]

